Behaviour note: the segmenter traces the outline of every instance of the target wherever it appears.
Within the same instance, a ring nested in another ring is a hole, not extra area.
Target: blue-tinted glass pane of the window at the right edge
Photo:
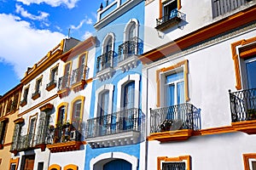
[[[256,88],[256,60],[246,64],[248,88]]]

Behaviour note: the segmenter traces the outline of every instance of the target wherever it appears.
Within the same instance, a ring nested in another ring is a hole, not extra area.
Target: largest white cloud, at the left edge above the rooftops
[[[20,78],[28,66],[37,63],[64,38],[60,32],[33,29],[30,23],[11,14],[0,14],[0,26],[0,58],[14,65]]]

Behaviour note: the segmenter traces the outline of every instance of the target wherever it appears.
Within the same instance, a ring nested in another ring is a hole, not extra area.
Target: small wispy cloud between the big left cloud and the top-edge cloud
[[[38,11],[38,16],[37,15],[33,15],[33,14],[29,14],[26,10],[25,10],[25,8],[22,8],[20,5],[17,5],[16,4],[16,10],[15,10],[15,12],[17,13],[17,14],[21,14],[21,16],[23,16],[23,17],[26,17],[26,18],[29,18],[29,19],[31,19],[31,20],[45,20],[48,16],[49,16],[49,14],[48,13],[44,13],[44,12],[42,12],[42,11]]]

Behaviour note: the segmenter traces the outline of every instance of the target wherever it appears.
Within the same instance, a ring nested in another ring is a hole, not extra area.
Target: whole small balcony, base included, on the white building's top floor
[[[155,29],[165,31],[172,26],[176,26],[182,20],[185,20],[185,14],[177,9],[173,9],[170,14],[164,15],[160,19],[156,19]]]

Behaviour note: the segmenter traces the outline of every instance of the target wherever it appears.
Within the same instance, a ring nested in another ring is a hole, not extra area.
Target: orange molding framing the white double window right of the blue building
[[[183,60],[181,62],[178,62],[176,65],[172,65],[169,67],[164,67],[161,68],[159,70],[156,71],[156,106],[160,107],[160,73],[161,72],[166,72],[166,71],[172,71],[175,70],[179,67],[183,66],[183,75],[184,75],[184,97],[185,97],[185,101],[188,102],[189,101],[189,82],[188,82],[188,73],[189,73],[189,69],[188,69],[188,60]]]

